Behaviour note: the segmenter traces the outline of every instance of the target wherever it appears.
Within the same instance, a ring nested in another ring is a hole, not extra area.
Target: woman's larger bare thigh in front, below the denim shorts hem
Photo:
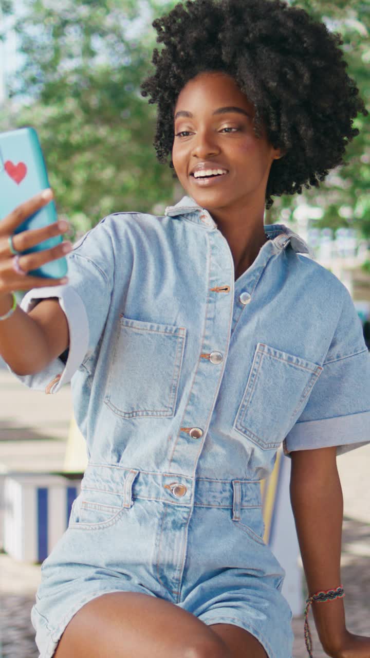
[[[207,624],[164,599],[103,594],[72,617],[55,658],[234,658]]]

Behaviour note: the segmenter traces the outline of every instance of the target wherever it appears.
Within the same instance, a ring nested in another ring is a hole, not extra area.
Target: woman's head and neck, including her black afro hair
[[[358,134],[353,119],[367,110],[340,35],[303,9],[188,1],[153,26],[164,47],[142,95],[158,105],[157,157],[171,153],[184,190],[212,213],[238,278],[266,241],[273,195],[318,187],[343,163]]]

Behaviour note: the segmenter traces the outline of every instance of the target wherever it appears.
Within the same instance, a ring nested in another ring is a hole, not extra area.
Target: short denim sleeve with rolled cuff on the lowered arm
[[[342,311],[323,370],[284,440],[286,455],[334,445],[340,454],[370,442],[370,353],[344,286],[342,295]]]

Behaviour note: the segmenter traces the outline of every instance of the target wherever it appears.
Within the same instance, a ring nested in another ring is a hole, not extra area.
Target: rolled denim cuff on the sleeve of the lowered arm
[[[296,422],[283,442],[284,455],[294,450],[338,447],[337,454],[370,443],[370,411]]]

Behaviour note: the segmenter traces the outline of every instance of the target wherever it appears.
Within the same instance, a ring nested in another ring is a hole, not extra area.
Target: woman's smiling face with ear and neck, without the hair
[[[182,187],[207,208],[234,259],[235,276],[266,241],[265,195],[271,165],[282,157],[253,130],[255,110],[234,78],[203,72],[180,91],[174,109],[172,163]]]

